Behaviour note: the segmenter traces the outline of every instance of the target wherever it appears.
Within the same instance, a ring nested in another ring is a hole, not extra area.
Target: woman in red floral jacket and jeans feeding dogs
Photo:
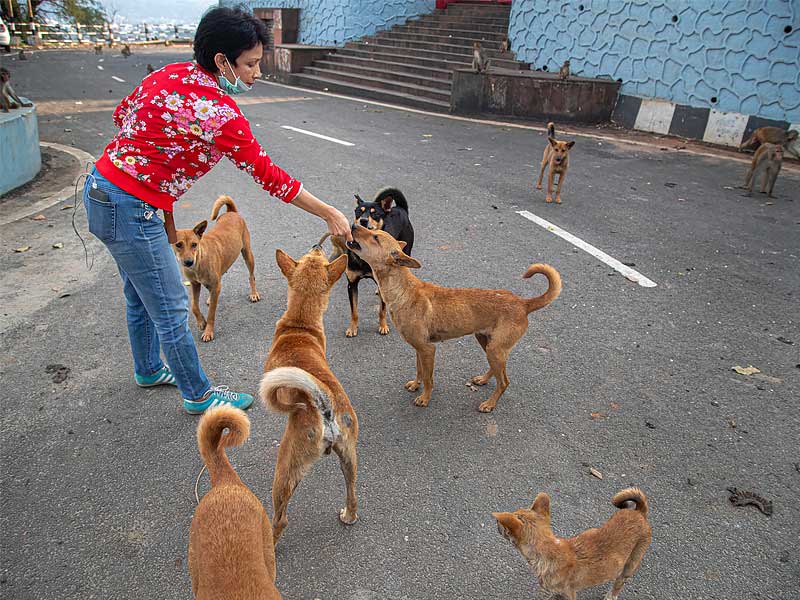
[[[246,409],[249,394],[212,386],[189,331],[188,299],[156,209],[175,200],[223,156],[271,195],[322,218],[333,235],[352,239],[345,216],[273,164],[232,96],[261,74],[266,26],[240,9],[217,8],[200,21],[196,63],[148,75],[114,112],[120,131],[84,187],[89,230],[108,248],[124,284],[134,380],[177,385],[183,406]],[[169,366],[161,360],[160,349]]]

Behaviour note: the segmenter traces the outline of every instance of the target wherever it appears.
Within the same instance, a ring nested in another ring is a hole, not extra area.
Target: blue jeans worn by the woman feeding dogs
[[[108,195],[89,197],[90,188]],[[94,169],[83,188],[91,231],[117,263],[124,285],[133,366],[150,375],[164,366],[164,350],[181,394],[199,400],[211,388],[189,331],[189,300],[156,209],[121,190]]]

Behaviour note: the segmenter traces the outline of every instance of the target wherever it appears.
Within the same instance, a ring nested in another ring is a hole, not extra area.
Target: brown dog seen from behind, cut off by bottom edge
[[[197,445],[211,476],[211,491],[189,530],[189,574],[197,600],[281,598],[269,517],[225,455],[226,447],[242,444],[249,434],[250,421],[231,406],[206,411],[197,427]]]

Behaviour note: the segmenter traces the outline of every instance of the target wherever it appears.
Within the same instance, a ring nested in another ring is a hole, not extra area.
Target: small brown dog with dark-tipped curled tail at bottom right
[[[550,497],[541,493],[531,508],[492,513],[497,529],[510,540],[548,592],[575,600],[576,592],[608,581],[614,586],[606,600],[617,600],[625,582],[639,569],[650,545],[647,497],[638,488],[622,490],[612,500],[617,508],[628,502],[635,509],[616,512],[599,529],[573,538],[558,538],[550,527]]]

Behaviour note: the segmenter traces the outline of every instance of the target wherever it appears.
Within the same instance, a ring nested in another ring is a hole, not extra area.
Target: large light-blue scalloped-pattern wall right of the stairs
[[[514,0],[509,38],[621,94],[800,122],[800,0]]]

